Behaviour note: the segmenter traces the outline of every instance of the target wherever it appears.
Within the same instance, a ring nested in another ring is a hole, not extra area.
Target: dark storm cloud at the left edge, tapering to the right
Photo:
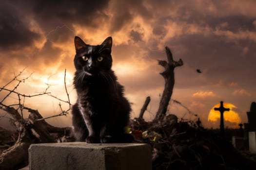
[[[33,45],[41,38],[39,33],[31,31],[22,22],[23,18],[11,7],[0,6],[0,48],[4,50],[18,50]]]

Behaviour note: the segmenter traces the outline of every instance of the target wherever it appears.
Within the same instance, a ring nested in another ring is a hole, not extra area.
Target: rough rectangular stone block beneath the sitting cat
[[[152,170],[148,144],[32,144],[30,170]]]

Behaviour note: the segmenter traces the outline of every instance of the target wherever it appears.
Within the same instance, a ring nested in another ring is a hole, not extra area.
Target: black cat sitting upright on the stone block
[[[131,106],[111,69],[112,38],[106,38],[101,45],[91,46],[76,36],[75,47],[74,85],[78,99],[72,109],[72,121],[76,140],[132,142],[133,136],[124,133]]]

